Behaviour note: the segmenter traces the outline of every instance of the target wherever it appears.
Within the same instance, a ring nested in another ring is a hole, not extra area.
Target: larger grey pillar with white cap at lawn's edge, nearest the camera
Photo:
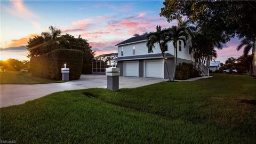
[[[115,67],[106,68],[107,89],[110,91],[119,90],[120,69]]]

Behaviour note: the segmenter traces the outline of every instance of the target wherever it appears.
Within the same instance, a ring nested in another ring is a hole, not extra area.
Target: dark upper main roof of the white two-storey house
[[[192,36],[195,37],[191,29],[187,26],[186,29],[188,30],[188,33]],[[129,39],[126,39],[125,41],[116,44],[115,46],[118,45],[125,45],[125,44],[130,44],[130,43],[135,43],[135,42],[144,42],[147,41],[147,34],[141,35],[141,36],[134,36]]]

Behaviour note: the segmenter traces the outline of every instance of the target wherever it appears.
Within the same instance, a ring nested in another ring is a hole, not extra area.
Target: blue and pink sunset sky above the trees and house
[[[133,36],[154,31],[157,25],[171,27],[159,16],[163,1],[0,1],[0,59],[27,58],[29,38],[41,35],[49,26],[62,34],[81,35],[96,55],[117,52],[115,45]],[[239,57],[237,37],[217,50],[221,62]]]

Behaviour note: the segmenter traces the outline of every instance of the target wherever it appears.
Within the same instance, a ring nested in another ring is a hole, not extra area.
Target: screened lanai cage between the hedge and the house
[[[111,61],[117,58],[117,53],[101,54],[92,59],[92,74],[105,74],[105,69],[117,67],[117,62]]]

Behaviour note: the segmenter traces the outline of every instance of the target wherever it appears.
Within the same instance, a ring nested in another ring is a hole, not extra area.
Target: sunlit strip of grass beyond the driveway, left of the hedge
[[[30,73],[4,73],[0,74],[0,84],[45,84],[59,83],[63,81],[54,81],[41,77],[31,76]]]

